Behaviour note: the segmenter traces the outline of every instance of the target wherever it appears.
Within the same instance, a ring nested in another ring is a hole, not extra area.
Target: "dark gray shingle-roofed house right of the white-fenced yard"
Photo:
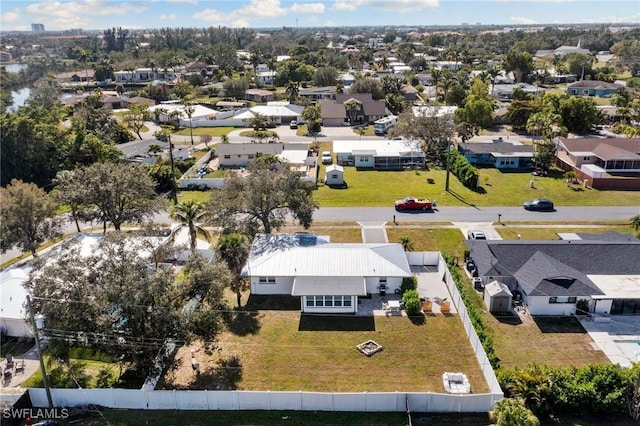
[[[640,315],[638,239],[607,233],[585,239],[466,244],[478,275],[521,292],[532,315],[572,315],[580,299],[589,302],[590,312]]]

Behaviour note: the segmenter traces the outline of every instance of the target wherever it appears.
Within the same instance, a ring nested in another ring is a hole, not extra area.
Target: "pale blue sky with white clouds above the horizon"
[[[0,30],[640,23],[639,0],[1,0]]]

